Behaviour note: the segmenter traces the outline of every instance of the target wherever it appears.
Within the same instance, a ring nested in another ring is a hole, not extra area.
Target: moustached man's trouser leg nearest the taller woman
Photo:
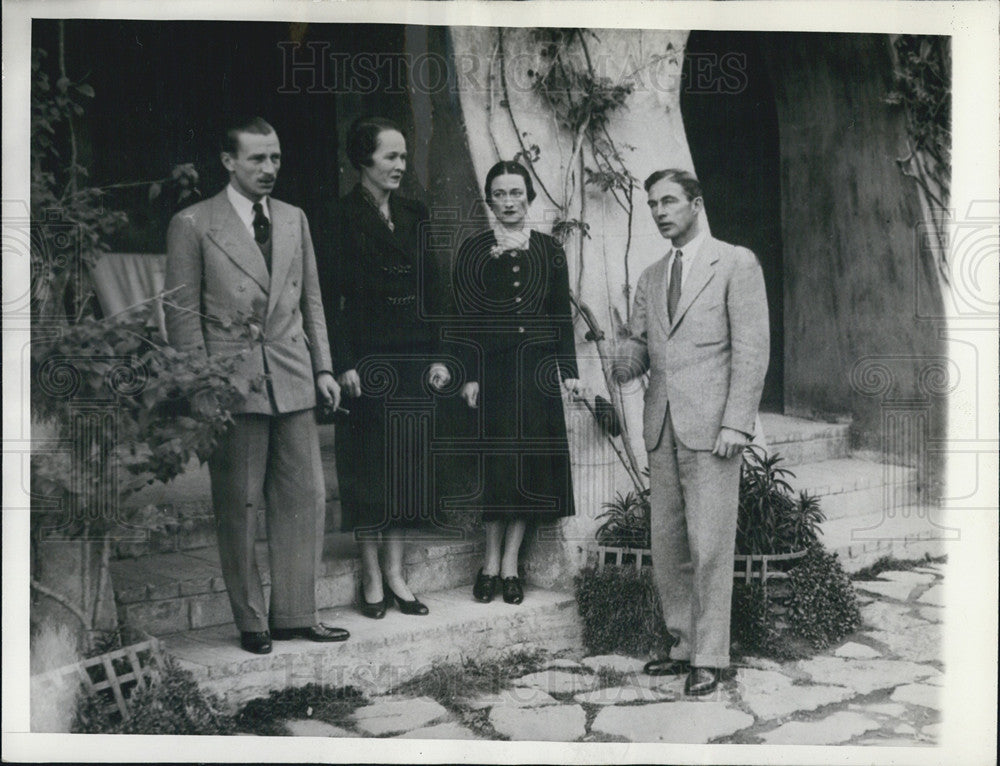
[[[312,410],[271,418],[264,496],[271,562],[271,626],[315,625],[316,562],[326,499]],[[319,537],[319,539],[317,539]]]

